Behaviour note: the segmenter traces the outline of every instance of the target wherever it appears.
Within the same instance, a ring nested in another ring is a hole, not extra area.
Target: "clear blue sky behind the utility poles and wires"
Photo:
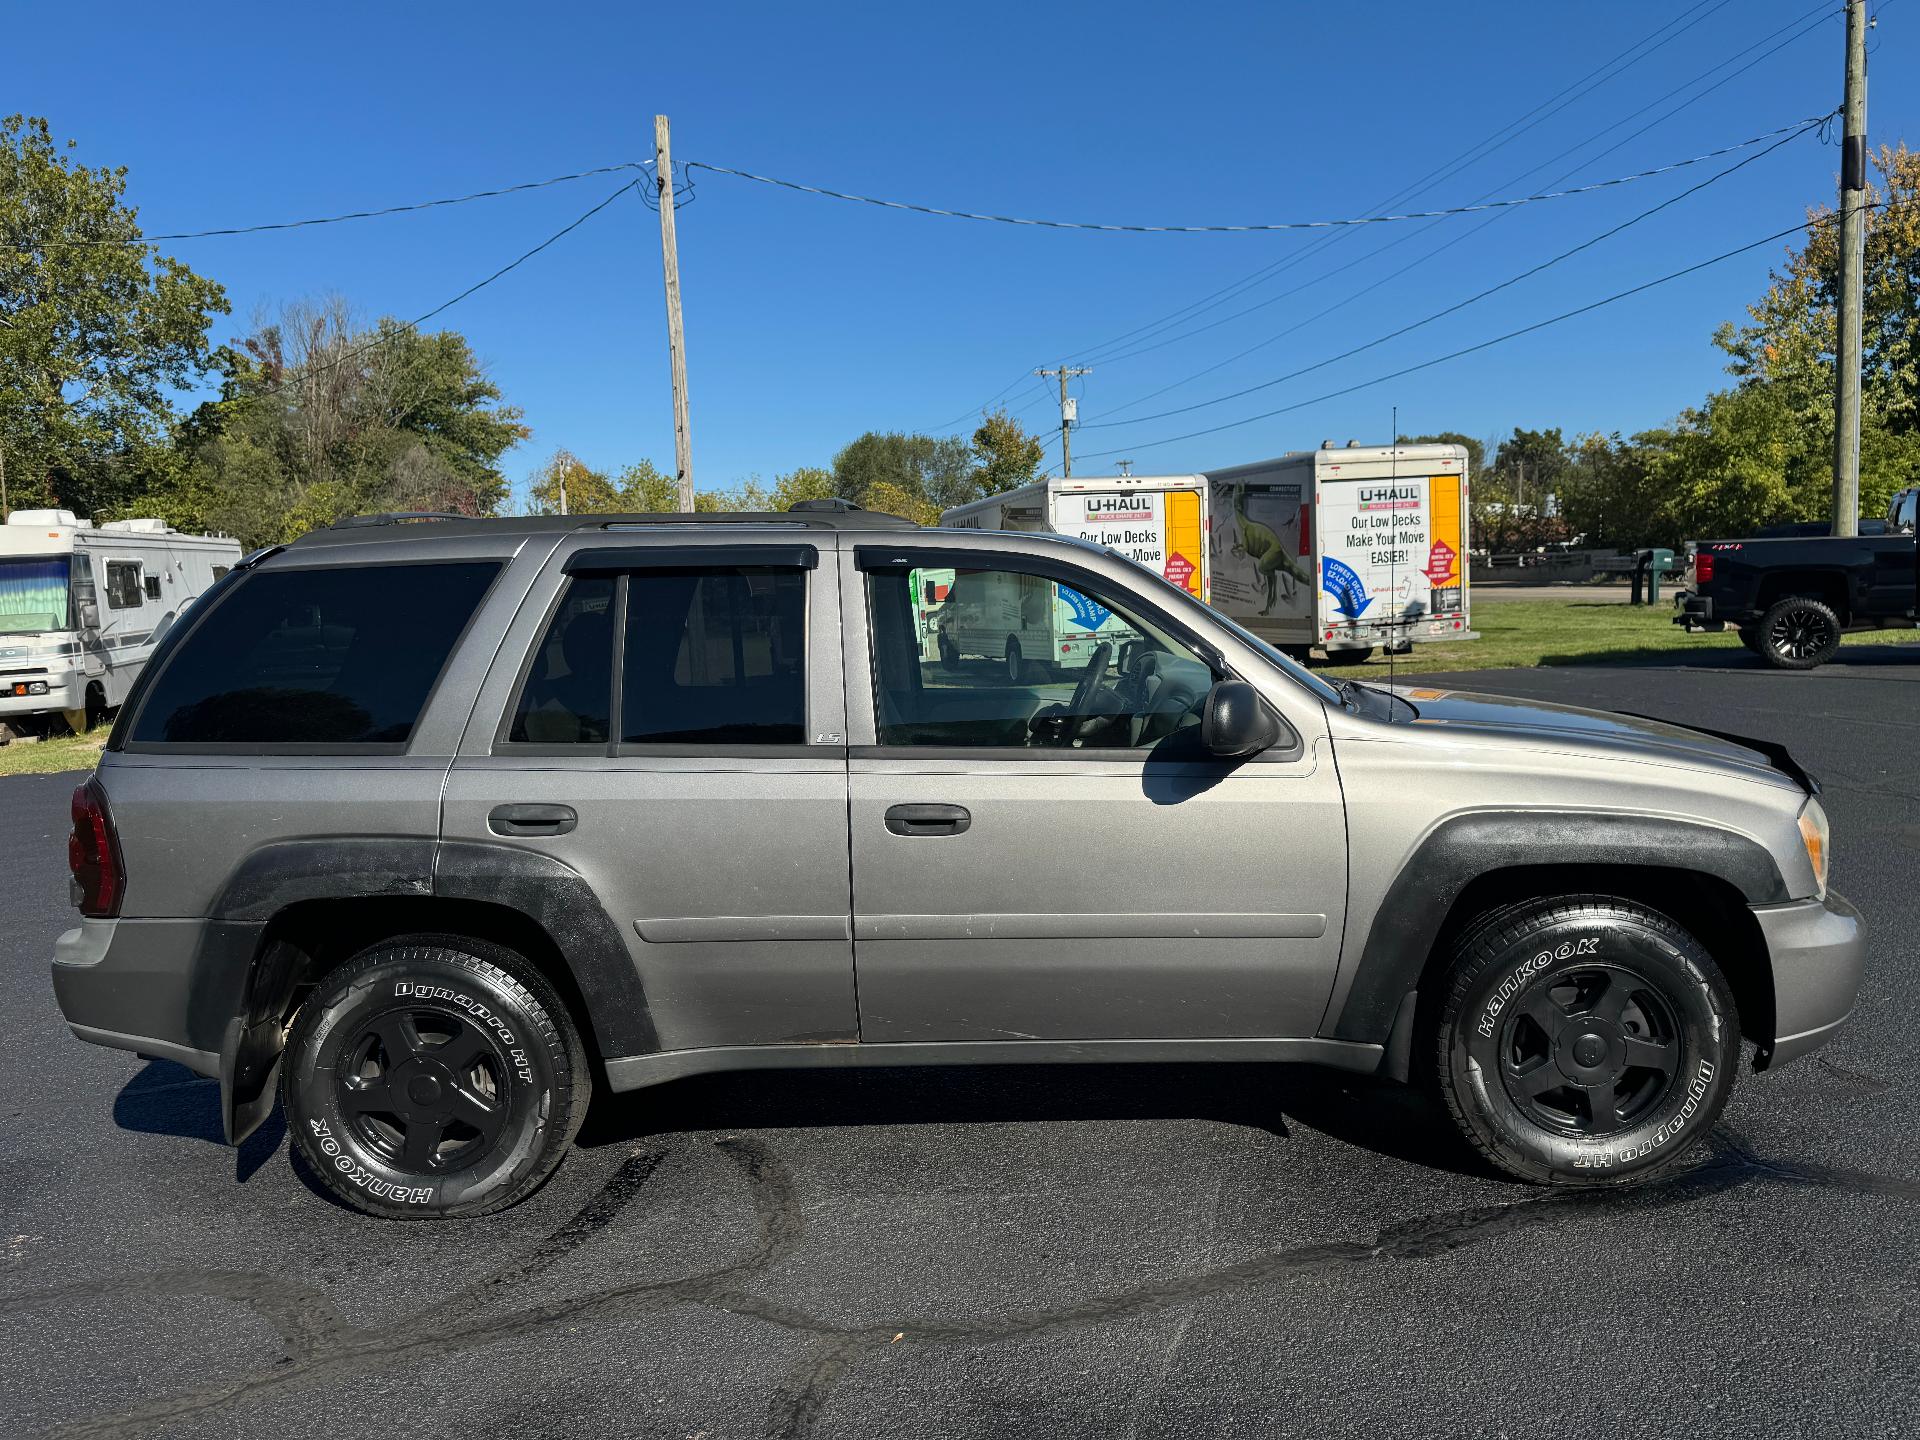
[[[1897,81],[1920,75],[1920,4],[1884,6],[1868,61],[1874,144],[1920,119],[1920,86]],[[1791,38],[1803,19],[1812,29]],[[1809,0],[102,4],[15,6],[8,31],[8,108],[46,115],[86,163],[127,165],[150,232],[649,159],[657,111],[672,115],[682,161],[954,209],[1152,225],[1377,213],[1636,42],[1667,40],[1405,202],[1430,209],[1530,194],[1563,175],[1563,184],[1628,175],[1818,115],[1839,104],[1843,60],[1839,4]],[[1759,48],[1734,60],[1749,46]],[[1626,119],[1634,111],[1644,113]],[[1380,440],[1392,405],[1407,432],[1659,424],[1724,382],[1713,328],[1761,292],[1778,246],[1390,384],[1152,444],[1313,399],[1795,225],[1809,204],[1832,200],[1836,146],[1797,138],[1354,359],[1190,415],[1144,417],[1396,330],[1757,150],[1417,234],[1421,223],[1338,234],[1039,230],[695,173],[697,196],[680,215],[695,476],[712,488],[824,465],[868,428],[970,430],[962,417],[1002,390],[1023,422],[1052,430],[1054,403],[1025,371],[1060,361],[1094,367],[1077,382],[1081,472],[1121,455],[1137,472],[1179,472],[1327,436]],[[228,288],[234,315],[219,323],[221,338],[263,307],[326,292],[369,317],[411,319],[616,184],[601,177],[167,250]],[[1398,244],[1373,257],[1388,242]],[[1413,259],[1423,263],[1359,294]],[[1102,344],[1275,265],[1229,303],[1135,344]],[[1331,275],[1336,267],[1346,269]],[[436,324],[463,330],[526,411],[534,438],[509,457],[516,480],[563,445],[589,465],[649,457],[672,468],[659,223],[637,198],[622,196]],[[1194,378],[1200,371],[1212,372]],[[1164,386],[1175,388],[1135,403]]]

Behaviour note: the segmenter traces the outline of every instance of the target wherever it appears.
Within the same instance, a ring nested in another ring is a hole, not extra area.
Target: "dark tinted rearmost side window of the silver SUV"
[[[131,739],[405,745],[499,564],[374,564],[246,576],[194,628]]]

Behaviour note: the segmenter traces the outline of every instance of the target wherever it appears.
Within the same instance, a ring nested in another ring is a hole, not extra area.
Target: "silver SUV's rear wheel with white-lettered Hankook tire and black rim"
[[[294,1146],[369,1215],[484,1215],[532,1194],[591,1075],[547,979],[499,945],[405,935],[307,996],[280,1062]]]

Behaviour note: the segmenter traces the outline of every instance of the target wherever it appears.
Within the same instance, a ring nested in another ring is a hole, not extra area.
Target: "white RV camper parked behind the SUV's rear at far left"
[[[165,520],[13,511],[0,524],[0,739],[117,708],[180,611],[238,563],[240,541]]]

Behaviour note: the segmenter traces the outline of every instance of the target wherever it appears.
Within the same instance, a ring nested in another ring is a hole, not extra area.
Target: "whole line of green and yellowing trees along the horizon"
[[[44,119],[0,121],[0,486],[8,507],[161,515],[246,543],[342,515],[495,515],[505,457],[532,432],[455,330],[363,321],[344,300],[292,301],[215,342],[217,280],[144,244],[125,169],[88,167]],[[1920,154],[1882,148],[1866,227],[1862,515],[1920,484]],[[1465,444],[1480,549],[1551,541],[1676,545],[1830,507],[1837,225],[1811,211],[1743,323],[1715,344],[1734,376],[1632,436],[1515,428]],[[194,392],[211,396],[186,405]],[[933,520],[1025,484],[1041,442],[1004,411],[972,436],[868,432],[826,467],[701,492],[703,511],[843,495]],[[561,449],[534,513],[670,511],[651,461],[595,470]],[[1551,497],[1551,499],[1548,499]]]

